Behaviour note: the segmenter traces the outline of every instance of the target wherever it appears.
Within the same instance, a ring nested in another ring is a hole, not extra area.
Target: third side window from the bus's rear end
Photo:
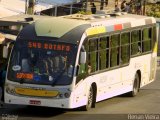
[[[129,62],[130,58],[130,32],[121,34],[121,64]]]

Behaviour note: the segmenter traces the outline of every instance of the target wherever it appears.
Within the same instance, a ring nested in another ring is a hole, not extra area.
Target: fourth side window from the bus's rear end
[[[119,65],[119,45],[120,45],[120,34],[115,34],[111,36],[110,41],[110,67],[115,67]]]

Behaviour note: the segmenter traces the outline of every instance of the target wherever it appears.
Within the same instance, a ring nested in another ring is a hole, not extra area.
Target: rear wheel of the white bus
[[[129,92],[130,97],[134,97],[137,95],[137,93],[139,92],[139,85],[140,85],[139,75],[136,74],[134,79],[133,89],[131,92]]]

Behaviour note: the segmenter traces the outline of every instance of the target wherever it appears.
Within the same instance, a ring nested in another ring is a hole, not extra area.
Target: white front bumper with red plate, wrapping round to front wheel
[[[5,103],[17,105],[32,105],[55,108],[73,109],[86,105],[87,97],[77,100],[75,96],[71,95],[69,98],[36,98],[30,96],[16,96],[5,92]]]

